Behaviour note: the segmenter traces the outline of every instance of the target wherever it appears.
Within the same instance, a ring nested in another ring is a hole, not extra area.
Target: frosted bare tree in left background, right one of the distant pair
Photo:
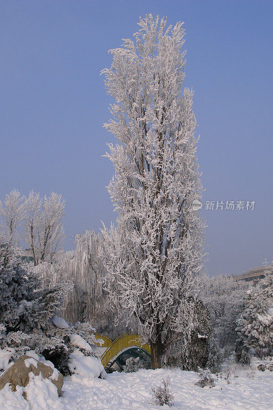
[[[55,192],[41,199],[39,193],[31,191],[26,204],[28,215],[25,241],[31,249],[34,264],[52,261],[65,238],[62,225],[65,201]]]

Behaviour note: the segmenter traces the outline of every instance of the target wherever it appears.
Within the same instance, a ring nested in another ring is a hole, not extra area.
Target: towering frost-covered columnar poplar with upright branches
[[[140,29],[110,50],[104,69],[114,97],[106,124],[117,140],[107,156],[117,226],[104,229],[109,292],[135,316],[149,341],[151,367],[171,343],[175,318],[199,273],[203,222],[192,208],[201,197],[194,136],[193,91],[185,88],[182,23],[140,18]]]

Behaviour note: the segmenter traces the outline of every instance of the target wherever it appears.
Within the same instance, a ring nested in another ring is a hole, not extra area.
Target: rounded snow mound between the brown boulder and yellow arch
[[[100,377],[104,379],[106,372],[101,361],[96,357],[85,356],[79,349],[75,349],[69,356],[69,368],[71,373],[81,377]]]

